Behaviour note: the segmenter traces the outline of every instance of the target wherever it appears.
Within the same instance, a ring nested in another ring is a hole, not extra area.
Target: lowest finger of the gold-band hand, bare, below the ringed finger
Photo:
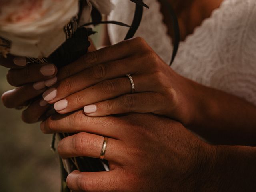
[[[110,192],[127,191],[126,176],[119,170],[109,172],[79,172],[73,171],[67,177],[67,185],[73,191]],[[131,183],[129,183],[131,184]]]

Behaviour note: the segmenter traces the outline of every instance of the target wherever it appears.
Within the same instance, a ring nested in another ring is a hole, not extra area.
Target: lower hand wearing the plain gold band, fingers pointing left
[[[216,147],[180,123],[152,114],[99,118],[82,111],[55,114],[42,122],[41,129],[47,134],[77,133],[59,142],[62,158],[99,158],[103,136],[109,138],[105,159],[110,171],[72,172],[67,184],[74,191],[194,191],[204,184],[215,158]]]

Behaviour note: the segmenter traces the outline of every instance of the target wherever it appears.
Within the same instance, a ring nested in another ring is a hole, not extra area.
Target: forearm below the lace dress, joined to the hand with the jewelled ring
[[[256,144],[256,106],[219,90],[192,86],[194,116],[188,128],[215,144]]]

